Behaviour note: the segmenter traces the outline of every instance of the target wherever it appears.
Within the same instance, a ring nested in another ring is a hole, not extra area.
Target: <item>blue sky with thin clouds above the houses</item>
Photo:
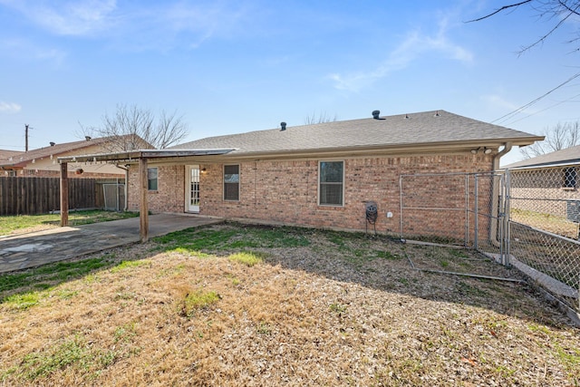
[[[189,137],[446,110],[496,121],[580,72],[569,20],[497,0],[0,0],[0,149],[80,140],[117,105],[177,111]],[[496,123],[580,120],[580,78]],[[519,152],[507,161],[519,160]]]

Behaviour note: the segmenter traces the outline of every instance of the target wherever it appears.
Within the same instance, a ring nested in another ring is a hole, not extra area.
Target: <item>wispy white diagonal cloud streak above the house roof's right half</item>
[[[372,82],[406,68],[411,63],[419,60],[420,56],[425,53],[435,52],[459,62],[471,62],[473,53],[450,41],[448,31],[448,20],[442,18],[436,34],[423,34],[419,29],[411,31],[401,44],[389,54],[388,58],[375,69],[368,72],[345,75],[334,73],[329,77],[335,82],[334,87],[336,89],[358,92]]]

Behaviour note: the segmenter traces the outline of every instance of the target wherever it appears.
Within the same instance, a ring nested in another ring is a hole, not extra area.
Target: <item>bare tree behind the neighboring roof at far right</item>
[[[580,145],[580,121],[558,122],[554,128],[546,129],[543,134],[546,140],[519,149],[525,159]]]

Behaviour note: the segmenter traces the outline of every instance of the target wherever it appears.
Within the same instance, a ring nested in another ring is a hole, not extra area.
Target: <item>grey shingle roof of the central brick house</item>
[[[472,120],[448,111],[425,111],[382,117],[380,120],[368,118],[333,121],[288,126],[285,131],[272,129],[209,137],[180,144],[171,149],[235,148],[236,150],[230,154],[242,155],[477,140],[512,140],[514,145],[527,145],[542,139],[536,135]]]

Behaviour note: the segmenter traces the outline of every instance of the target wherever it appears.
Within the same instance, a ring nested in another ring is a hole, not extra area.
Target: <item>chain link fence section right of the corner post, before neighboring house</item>
[[[507,170],[514,265],[580,312],[580,195],[576,165]]]

